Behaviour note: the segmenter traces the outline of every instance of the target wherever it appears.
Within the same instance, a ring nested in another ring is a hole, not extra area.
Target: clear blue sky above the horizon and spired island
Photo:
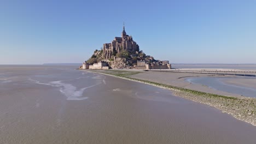
[[[256,1],[0,1],[0,64],[82,63],[126,33],[171,63],[256,63]]]

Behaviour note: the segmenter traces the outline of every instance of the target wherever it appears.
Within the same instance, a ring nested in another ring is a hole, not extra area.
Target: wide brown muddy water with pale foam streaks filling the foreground
[[[256,127],[75,67],[0,66],[0,143],[255,143]]]

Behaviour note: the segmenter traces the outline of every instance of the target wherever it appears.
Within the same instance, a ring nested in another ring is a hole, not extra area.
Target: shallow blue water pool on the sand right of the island
[[[208,86],[210,88],[217,89],[218,91],[240,94],[245,97],[256,98],[255,88],[231,85],[231,84],[225,83],[224,82],[225,79],[234,79],[235,81],[239,81],[241,78],[240,77],[192,77],[185,80],[191,83]],[[245,77],[243,77],[243,79],[245,79]],[[253,78],[247,77],[247,79],[255,79],[255,77]]]

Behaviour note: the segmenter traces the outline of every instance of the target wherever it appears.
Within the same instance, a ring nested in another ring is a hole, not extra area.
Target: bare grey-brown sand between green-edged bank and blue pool
[[[196,77],[196,76],[215,76],[215,75],[146,71],[145,73],[132,75],[131,77],[137,78],[137,79],[142,79],[142,80],[154,81],[154,82],[158,82],[158,83],[164,83],[164,84],[176,86],[176,87],[193,89],[193,90],[201,91],[201,92],[240,97],[239,94],[218,91],[216,89],[212,89],[207,86],[203,86],[203,85],[199,85],[199,84],[192,84],[192,83],[184,80],[185,78]],[[219,75],[216,75],[216,76],[219,76]]]

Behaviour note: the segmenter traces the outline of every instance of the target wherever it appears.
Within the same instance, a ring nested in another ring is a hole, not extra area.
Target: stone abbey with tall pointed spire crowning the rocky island
[[[136,52],[139,51],[139,46],[132,37],[126,35],[125,26],[123,27],[123,32],[121,37],[115,37],[112,43],[103,44],[103,55],[104,59],[109,59],[113,56],[113,53],[119,53],[121,51]]]

